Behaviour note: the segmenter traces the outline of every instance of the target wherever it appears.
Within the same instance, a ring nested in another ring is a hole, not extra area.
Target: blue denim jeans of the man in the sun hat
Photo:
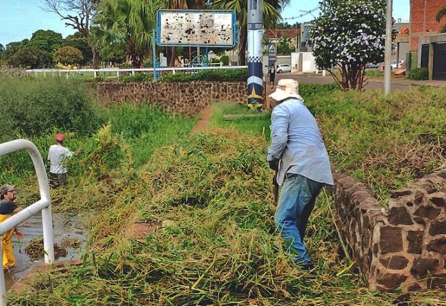
[[[285,240],[286,247],[295,254],[295,260],[302,266],[310,263],[310,257],[303,246],[303,238],[316,197],[323,186],[324,183],[302,175],[286,173],[277,203],[275,224]]]

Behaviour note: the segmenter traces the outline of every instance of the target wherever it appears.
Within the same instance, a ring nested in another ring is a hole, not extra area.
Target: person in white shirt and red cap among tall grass
[[[64,186],[66,183],[66,159],[73,156],[73,152],[63,146],[64,134],[55,136],[55,144],[49,147],[49,184],[51,187]]]

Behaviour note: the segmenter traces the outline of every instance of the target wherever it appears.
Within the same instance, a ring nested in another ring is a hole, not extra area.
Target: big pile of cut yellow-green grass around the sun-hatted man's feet
[[[295,266],[275,231],[265,149],[263,138],[234,130],[198,134],[83,190],[78,199],[91,191],[103,203],[84,263],[40,275],[37,292],[12,294],[10,305],[393,305],[397,294],[369,292],[338,255],[325,193],[308,227],[316,275]],[[168,225],[125,236],[132,222],[156,219]]]

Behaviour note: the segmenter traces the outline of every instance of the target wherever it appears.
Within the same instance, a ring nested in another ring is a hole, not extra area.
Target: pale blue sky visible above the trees
[[[290,0],[284,12],[283,18],[290,18],[305,14],[299,10],[308,11],[317,8],[319,0]],[[73,34],[75,31],[71,27],[65,27],[60,16],[42,10],[41,0],[0,0],[0,44],[21,41],[31,38],[34,31],[38,29],[52,29],[61,33],[63,37]],[[395,20],[401,18],[403,21],[409,20],[409,0],[393,0],[393,17]],[[313,13],[317,16],[318,12]],[[286,20],[293,24],[310,21],[312,16],[301,16],[294,20]]]

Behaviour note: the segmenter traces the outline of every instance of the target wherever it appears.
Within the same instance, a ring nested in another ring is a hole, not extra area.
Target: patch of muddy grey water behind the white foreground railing
[[[53,214],[53,235],[54,242],[66,248],[66,256],[55,259],[56,261],[79,259],[84,253],[86,241],[88,239],[88,227],[86,226],[86,216],[69,216],[68,214]],[[30,241],[42,238],[42,214],[36,214],[18,225],[25,235],[23,240],[18,240],[14,235],[12,244],[14,245],[14,255],[16,265],[10,270],[5,270],[6,290],[12,287],[18,279],[25,276],[29,269],[37,262],[45,262],[44,258],[32,260],[25,253],[25,247]],[[81,242],[78,248],[66,247],[64,244],[69,241],[78,240]]]

